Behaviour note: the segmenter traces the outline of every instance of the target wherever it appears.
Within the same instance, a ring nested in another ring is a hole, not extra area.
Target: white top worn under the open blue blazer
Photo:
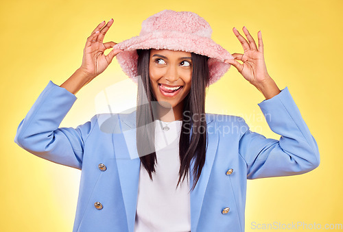
[[[162,129],[165,125],[168,131]],[[156,173],[152,173],[151,181],[141,165],[134,232],[191,231],[189,175],[176,189],[181,126],[182,120],[156,120]]]

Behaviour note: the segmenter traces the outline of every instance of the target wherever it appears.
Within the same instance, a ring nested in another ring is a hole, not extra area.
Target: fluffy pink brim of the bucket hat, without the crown
[[[116,44],[113,49],[122,49],[116,55],[119,65],[137,83],[137,49],[168,49],[186,51],[209,57],[209,84],[215,83],[230,68],[224,60],[233,56],[211,38],[179,31],[154,31],[144,36],[134,36]]]

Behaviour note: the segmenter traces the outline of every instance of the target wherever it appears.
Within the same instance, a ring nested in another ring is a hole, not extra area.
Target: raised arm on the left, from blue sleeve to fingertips
[[[115,42],[102,42],[112,23],[113,20],[103,27],[102,22],[93,30],[86,40],[82,65],[67,81],[61,86],[50,81],[38,96],[14,138],[14,142],[23,149],[51,162],[79,169],[82,167],[84,142],[97,124],[97,117],[76,129],[59,126],[76,100],[75,93],[102,73],[121,51],[113,49],[104,55],[106,49],[115,45]]]

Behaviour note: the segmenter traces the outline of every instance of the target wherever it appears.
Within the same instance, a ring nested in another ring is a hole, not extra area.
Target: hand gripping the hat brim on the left
[[[91,81],[91,79],[100,73],[104,72],[104,70],[112,62],[113,57],[122,51],[119,49],[113,49],[110,51],[110,53],[108,53],[108,55],[104,55],[104,51],[106,49],[110,49],[117,44],[113,41],[105,43],[103,42],[106,32],[113,24],[113,18],[108,21],[105,27],[104,23],[105,21],[97,25],[91,36],[87,38],[86,46],[84,47],[82,65],[79,69],[90,77],[89,81]]]

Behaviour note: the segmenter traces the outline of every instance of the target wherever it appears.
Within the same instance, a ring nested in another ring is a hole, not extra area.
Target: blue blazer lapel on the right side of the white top
[[[191,231],[197,231],[198,222],[200,218],[200,212],[202,208],[202,201],[204,201],[204,194],[206,191],[207,183],[209,182],[209,176],[211,174],[213,161],[215,158],[215,153],[217,152],[218,146],[218,134],[215,133],[216,122],[213,120],[209,114],[206,114],[206,123],[207,123],[207,131],[208,131],[208,146],[206,150],[206,161],[204,167],[202,168],[202,172],[198,183],[196,184],[196,188],[191,192]],[[191,163],[191,170],[193,170],[193,162]],[[190,188],[193,185],[193,177],[190,176]]]

